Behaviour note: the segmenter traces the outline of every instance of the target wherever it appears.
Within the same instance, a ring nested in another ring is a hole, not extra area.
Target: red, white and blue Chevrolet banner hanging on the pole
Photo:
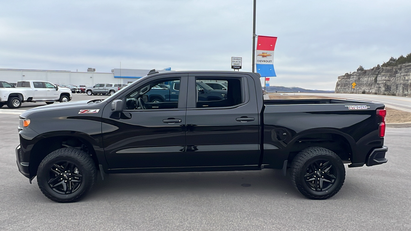
[[[276,76],[274,71],[274,48],[277,37],[259,36],[257,39],[256,69],[261,77]]]

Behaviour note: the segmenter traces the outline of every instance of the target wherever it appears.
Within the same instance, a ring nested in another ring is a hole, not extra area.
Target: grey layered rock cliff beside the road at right
[[[351,84],[354,82],[356,86],[352,88]],[[411,97],[411,63],[395,67],[373,67],[372,69],[338,76],[335,93]]]

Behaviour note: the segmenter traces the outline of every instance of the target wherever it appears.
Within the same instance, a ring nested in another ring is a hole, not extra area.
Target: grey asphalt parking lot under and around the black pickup
[[[411,128],[388,128],[388,163],[346,167],[325,201],[264,169],[110,175],[62,204],[18,172],[17,126],[18,115],[0,114],[0,230],[411,230]]]

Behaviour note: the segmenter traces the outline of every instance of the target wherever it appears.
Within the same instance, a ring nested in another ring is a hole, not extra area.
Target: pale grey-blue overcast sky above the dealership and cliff
[[[252,65],[252,0],[0,0],[0,68],[231,70]],[[409,0],[257,0],[278,37],[270,85],[334,90],[337,76],[411,53]]]

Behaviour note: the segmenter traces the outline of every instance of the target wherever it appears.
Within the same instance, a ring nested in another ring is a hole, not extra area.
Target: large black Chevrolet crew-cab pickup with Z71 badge
[[[209,98],[198,82],[227,85]],[[149,102],[179,82],[175,102]],[[107,173],[287,169],[309,199],[341,189],[348,167],[387,162],[384,104],[263,100],[247,72],[149,73],[104,100],[40,106],[20,116],[18,169],[57,202],[74,202]]]

